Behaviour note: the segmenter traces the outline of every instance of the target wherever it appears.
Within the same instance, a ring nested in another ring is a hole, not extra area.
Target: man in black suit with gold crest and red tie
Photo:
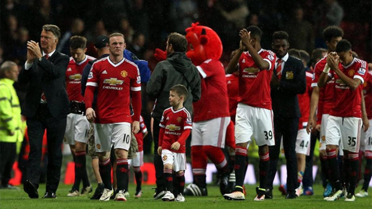
[[[301,117],[297,94],[306,90],[305,69],[302,61],[288,55],[288,33],[277,31],[273,34],[272,48],[276,54],[275,70],[271,81],[271,99],[274,112],[275,145],[269,147],[270,169],[267,178],[265,198],[272,197],[273,181],[277,171],[280,140],[287,163],[286,198],[296,197],[297,160],[296,137]]]

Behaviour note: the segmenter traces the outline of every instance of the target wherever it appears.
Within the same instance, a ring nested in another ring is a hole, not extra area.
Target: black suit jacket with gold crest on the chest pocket
[[[274,72],[276,72],[274,70]],[[274,76],[277,76],[274,73]],[[301,118],[297,94],[306,90],[304,64],[295,57],[288,57],[284,64],[279,86],[271,86],[271,99],[274,118]]]

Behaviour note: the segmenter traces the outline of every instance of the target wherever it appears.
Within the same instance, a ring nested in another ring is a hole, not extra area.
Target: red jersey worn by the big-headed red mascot
[[[230,116],[225,69],[222,63],[209,59],[196,68],[202,77],[202,95],[198,102],[193,103],[194,122]]]

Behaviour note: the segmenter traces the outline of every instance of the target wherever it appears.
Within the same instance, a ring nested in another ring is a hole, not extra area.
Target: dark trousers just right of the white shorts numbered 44
[[[314,163],[314,149],[315,144],[317,143],[317,138],[319,138],[318,135],[319,132],[317,132],[317,135],[311,134],[310,137],[310,155],[306,156],[305,172],[302,179],[302,185],[304,185],[304,187],[312,187],[312,184],[314,184],[314,178],[312,176],[312,165]]]

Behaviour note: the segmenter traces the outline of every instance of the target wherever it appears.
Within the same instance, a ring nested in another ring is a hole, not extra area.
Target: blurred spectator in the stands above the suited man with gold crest
[[[301,7],[295,9],[293,15],[284,27],[289,35],[291,48],[311,52],[314,48],[314,30],[310,22],[304,20],[304,10]]]

